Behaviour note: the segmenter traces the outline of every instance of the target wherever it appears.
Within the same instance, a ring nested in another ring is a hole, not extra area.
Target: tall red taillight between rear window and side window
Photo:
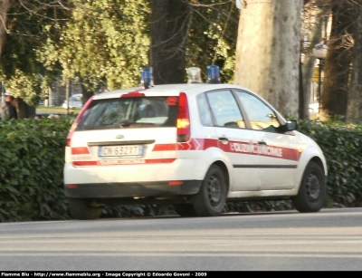
[[[190,139],[190,115],[185,92],[181,92],[178,98],[176,127],[177,142],[187,142]]]

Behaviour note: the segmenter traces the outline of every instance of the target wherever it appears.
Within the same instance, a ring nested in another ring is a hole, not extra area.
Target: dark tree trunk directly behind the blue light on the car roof
[[[155,84],[185,81],[189,6],[183,0],[153,0],[150,66]]]

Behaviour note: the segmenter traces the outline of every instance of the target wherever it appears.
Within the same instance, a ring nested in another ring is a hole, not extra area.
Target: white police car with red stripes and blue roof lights
[[[64,187],[74,218],[121,204],[173,204],[180,216],[218,216],[226,200],[323,206],[326,160],[295,121],[217,76],[200,83],[196,68],[187,84],[149,86],[142,74],[145,88],[93,96],[71,127]]]

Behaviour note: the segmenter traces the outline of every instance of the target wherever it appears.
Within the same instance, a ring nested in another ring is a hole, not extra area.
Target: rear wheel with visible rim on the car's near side
[[[226,182],[223,171],[213,165],[206,173],[202,186],[192,197],[196,216],[220,216],[226,201]]]

